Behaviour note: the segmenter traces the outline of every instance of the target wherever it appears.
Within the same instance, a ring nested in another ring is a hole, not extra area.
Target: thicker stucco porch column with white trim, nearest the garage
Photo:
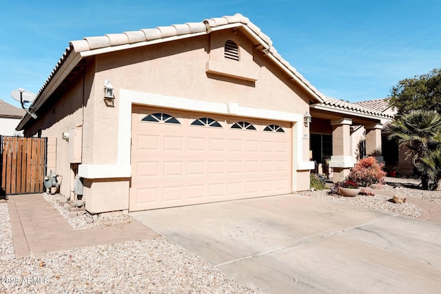
[[[332,156],[329,167],[334,173],[334,182],[344,180],[353,167],[351,156],[351,127],[350,118],[331,120],[332,125]]]

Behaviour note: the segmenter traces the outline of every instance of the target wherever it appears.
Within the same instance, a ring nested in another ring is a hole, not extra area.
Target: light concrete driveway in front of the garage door
[[[438,293],[441,225],[284,195],[131,213],[263,293]]]

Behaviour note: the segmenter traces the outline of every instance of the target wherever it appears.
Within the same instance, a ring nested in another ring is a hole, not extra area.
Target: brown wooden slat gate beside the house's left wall
[[[2,193],[41,193],[46,171],[46,138],[0,136]]]

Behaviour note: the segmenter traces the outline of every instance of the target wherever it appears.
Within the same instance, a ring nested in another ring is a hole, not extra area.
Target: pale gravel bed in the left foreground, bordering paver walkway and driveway
[[[15,258],[0,203],[0,293],[257,293],[166,238]]]

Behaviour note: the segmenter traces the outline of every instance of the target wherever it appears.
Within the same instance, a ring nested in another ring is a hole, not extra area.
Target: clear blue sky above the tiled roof
[[[404,78],[441,67],[439,0],[3,1],[0,99],[37,93],[69,41],[243,14],[327,96],[384,98]]]

